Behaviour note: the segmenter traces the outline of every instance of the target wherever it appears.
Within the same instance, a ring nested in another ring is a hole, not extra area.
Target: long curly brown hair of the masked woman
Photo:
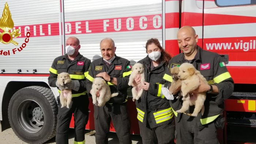
[[[170,54],[166,53],[165,50],[162,48],[160,42],[158,41],[157,38],[151,38],[151,39],[148,39],[147,40],[147,43],[146,43],[146,53],[147,53],[147,47],[148,45],[154,43],[155,45],[157,45],[157,47],[162,51],[161,52],[161,57],[159,58],[159,61],[165,61],[165,64],[168,64],[170,59],[172,58],[170,56]]]

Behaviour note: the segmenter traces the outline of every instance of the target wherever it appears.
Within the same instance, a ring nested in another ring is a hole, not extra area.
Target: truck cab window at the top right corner
[[[256,4],[256,0],[215,0],[219,7]]]

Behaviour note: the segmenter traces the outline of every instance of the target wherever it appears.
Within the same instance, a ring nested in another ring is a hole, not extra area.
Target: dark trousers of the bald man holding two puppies
[[[219,144],[214,122],[199,130],[196,117],[181,114],[179,122],[177,122],[177,117],[175,118],[176,144]]]

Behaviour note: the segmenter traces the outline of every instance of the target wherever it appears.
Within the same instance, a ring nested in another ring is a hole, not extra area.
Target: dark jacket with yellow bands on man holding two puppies
[[[204,114],[197,116],[199,126],[214,121],[224,109],[224,99],[229,98],[234,90],[234,82],[225,65],[225,58],[217,53],[203,50],[197,46],[197,53],[193,60],[185,60],[184,53],[180,53],[169,61],[169,70],[166,71],[164,79],[165,86],[170,87],[172,77],[170,76],[170,68],[180,66],[184,62],[190,62],[200,73],[206,78],[208,84],[213,84],[218,87],[219,94],[206,94],[204,102]],[[181,108],[182,98],[170,101],[173,113],[180,120],[180,113],[176,113]],[[186,113],[193,112],[193,106]]]

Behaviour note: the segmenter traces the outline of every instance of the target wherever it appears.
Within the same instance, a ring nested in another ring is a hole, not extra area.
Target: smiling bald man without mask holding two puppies
[[[204,114],[197,117],[190,116],[194,106],[190,106],[185,113],[176,113],[182,106],[182,98],[174,98],[170,101],[176,123],[177,144],[218,144],[216,128],[222,127],[224,99],[229,98],[234,90],[234,82],[225,63],[224,57],[217,53],[208,52],[197,46],[198,36],[190,26],[182,27],[177,34],[178,45],[183,53],[173,57],[169,62],[169,68],[189,62],[201,72],[208,84],[200,81],[200,86],[190,94],[190,98],[198,92],[206,92],[204,102]],[[169,70],[163,77],[165,86],[170,87],[172,77]],[[175,93],[180,90],[178,88]],[[194,93],[194,94],[193,94]],[[177,95],[177,94],[176,94]]]

